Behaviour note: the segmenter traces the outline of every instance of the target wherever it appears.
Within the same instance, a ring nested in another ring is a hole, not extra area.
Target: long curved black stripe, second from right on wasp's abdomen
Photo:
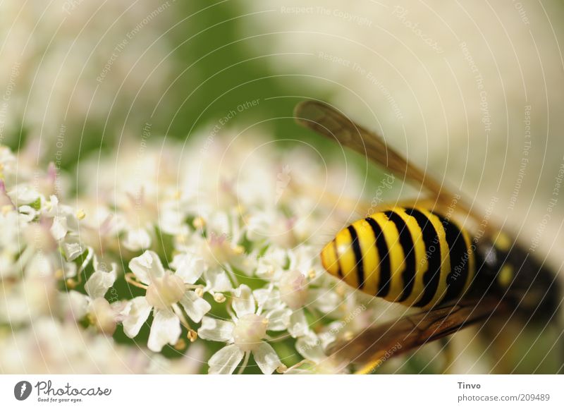
[[[423,296],[421,300],[415,303],[415,307],[424,307],[431,302],[437,288],[439,288],[439,280],[441,279],[441,243],[439,242],[439,235],[436,233],[435,227],[427,216],[417,209],[405,209],[405,212],[415,217],[423,233],[425,257],[427,257],[429,269],[423,276]]]

